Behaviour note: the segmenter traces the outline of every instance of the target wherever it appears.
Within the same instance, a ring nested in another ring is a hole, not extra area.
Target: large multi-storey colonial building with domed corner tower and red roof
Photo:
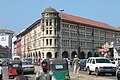
[[[15,53],[23,59],[80,58],[94,56],[96,45],[113,41],[120,44],[120,29],[62,12],[49,7],[42,18],[18,34]]]

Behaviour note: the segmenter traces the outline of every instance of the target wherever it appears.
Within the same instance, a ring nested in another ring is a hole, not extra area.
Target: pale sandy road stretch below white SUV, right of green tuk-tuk
[[[95,72],[91,75],[87,74],[87,71],[80,70],[78,75],[73,75],[73,68],[69,68],[71,80],[117,80],[116,76],[111,74],[105,74],[101,76],[96,76]]]

